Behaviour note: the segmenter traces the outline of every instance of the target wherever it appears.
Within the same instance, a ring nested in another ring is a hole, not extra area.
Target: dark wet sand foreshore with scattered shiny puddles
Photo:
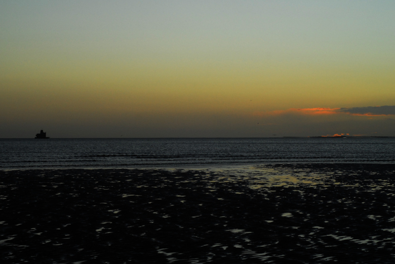
[[[395,263],[393,164],[0,171],[1,263]]]

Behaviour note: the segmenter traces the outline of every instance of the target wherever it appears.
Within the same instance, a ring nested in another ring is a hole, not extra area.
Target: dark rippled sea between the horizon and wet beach
[[[0,139],[0,169],[395,163],[395,138]]]

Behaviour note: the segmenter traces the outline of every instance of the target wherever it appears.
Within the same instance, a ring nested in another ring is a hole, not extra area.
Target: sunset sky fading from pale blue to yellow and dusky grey
[[[393,0],[0,0],[0,138],[395,136]]]

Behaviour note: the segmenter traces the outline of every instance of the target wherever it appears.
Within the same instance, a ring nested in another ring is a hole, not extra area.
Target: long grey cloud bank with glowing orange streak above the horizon
[[[299,115],[331,115],[349,114],[365,116],[395,115],[395,106],[354,107],[354,108],[290,108],[269,112],[255,112],[256,116],[277,116],[287,114]]]

